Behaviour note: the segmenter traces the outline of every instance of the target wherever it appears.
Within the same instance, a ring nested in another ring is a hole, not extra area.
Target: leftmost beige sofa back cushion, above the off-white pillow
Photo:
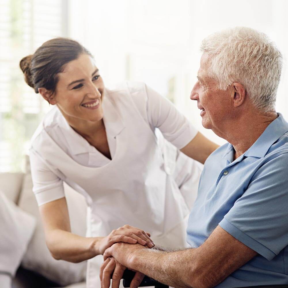
[[[14,203],[18,203],[23,173],[0,173],[1,191]]]

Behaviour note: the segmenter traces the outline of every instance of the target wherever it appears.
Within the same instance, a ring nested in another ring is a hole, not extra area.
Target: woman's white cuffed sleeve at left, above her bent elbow
[[[38,206],[65,197],[63,181],[51,171],[41,156],[30,149],[33,192]]]

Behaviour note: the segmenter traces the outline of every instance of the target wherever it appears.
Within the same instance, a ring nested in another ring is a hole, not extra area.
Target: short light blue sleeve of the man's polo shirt
[[[219,225],[268,260],[288,245],[288,153],[260,167]],[[241,179],[239,179],[241,181]]]

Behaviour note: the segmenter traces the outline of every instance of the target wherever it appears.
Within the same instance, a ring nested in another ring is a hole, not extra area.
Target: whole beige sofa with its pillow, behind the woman
[[[64,185],[73,233],[86,234],[84,197]],[[45,243],[32,192],[29,158],[26,173],[0,173],[0,287],[85,288],[86,262],[55,260]]]

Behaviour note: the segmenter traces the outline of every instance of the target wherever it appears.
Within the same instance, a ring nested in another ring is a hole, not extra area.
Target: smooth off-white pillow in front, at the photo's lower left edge
[[[0,191],[1,275],[15,276],[34,229],[35,218],[22,211]]]

